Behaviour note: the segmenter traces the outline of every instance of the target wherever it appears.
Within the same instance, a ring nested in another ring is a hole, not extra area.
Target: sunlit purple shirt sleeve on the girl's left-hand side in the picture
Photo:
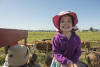
[[[54,57],[57,61],[59,61],[61,64],[69,64],[70,60],[67,57],[64,57],[61,52],[60,43],[58,41],[58,38],[53,38],[53,44],[52,44],[52,51],[54,53]]]

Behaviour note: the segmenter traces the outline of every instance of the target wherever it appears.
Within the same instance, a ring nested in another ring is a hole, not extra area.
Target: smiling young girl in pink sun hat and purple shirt
[[[51,67],[56,67],[57,64],[59,67],[78,67],[81,40],[74,32],[77,22],[76,13],[71,11],[63,11],[53,17],[53,23],[58,32],[53,38],[54,58]]]

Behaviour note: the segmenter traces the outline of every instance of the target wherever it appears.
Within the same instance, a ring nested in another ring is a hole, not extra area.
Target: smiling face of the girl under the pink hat
[[[60,30],[62,32],[70,32],[73,29],[72,17],[64,15],[60,19]]]

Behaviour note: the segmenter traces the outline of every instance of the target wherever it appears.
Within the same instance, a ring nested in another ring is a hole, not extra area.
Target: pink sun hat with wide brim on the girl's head
[[[78,23],[78,18],[77,18],[76,13],[65,10],[65,11],[62,11],[59,14],[57,14],[56,16],[53,17],[53,24],[57,29],[59,29],[59,19],[60,19],[60,17],[63,16],[63,15],[66,15],[66,14],[71,15],[73,17],[74,26],[75,26],[75,28],[77,27],[76,24]]]

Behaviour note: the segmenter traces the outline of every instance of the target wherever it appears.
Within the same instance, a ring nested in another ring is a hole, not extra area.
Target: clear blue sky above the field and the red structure
[[[55,30],[52,17],[70,10],[79,29],[100,29],[100,0],[0,0],[0,28]]]

